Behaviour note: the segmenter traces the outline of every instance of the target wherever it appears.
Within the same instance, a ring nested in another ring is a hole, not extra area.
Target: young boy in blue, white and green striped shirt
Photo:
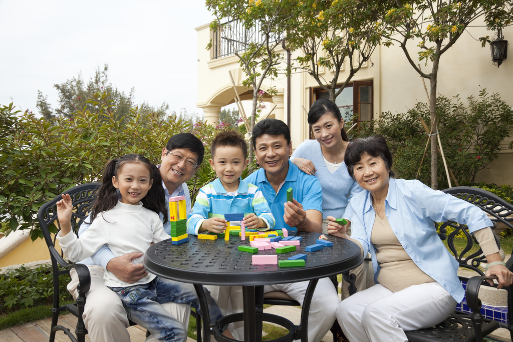
[[[212,140],[209,163],[218,179],[201,188],[196,196],[187,219],[189,234],[224,232],[227,213],[244,213],[243,222],[248,229],[265,231],[274,227],[274,217],[262,192],[241,178],[249,163],[247,153],[244,137],[234,130],[219,132]]]

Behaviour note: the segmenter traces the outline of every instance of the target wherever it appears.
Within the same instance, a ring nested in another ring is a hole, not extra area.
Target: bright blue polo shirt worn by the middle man
[[[264,194],[267,204],[271,208],[272,215],[276,220],[274,229],[287,228],[295,230],[295,227],[289,227],[283,219],[285,213],[284,205],[287,202],[287,190],[289,188],[293,189],[295,200],[301,203],[304,210],[315,209],[322,213],[322,188],[319,179],[304,173],[292,164],[290,160],[288,162],[289,170],[285,177],[285,182],[278,189],[278,194],[274,192],[274,189],[268,182],[263,168],[253,172],[244,179],[244,182],[258,186]]]

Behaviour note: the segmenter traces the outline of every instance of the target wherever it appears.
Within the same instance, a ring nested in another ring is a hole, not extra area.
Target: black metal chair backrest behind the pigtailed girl
[[[89,214],[89,209],[96,200],[98,194],[98,188],[101,183],[86,183],[77,185],[67,191],[64,194],[69,194],[73,203],[73,215],[71,217],[71,228],[75,234],[78,233],[78,227],[84,222],[84,219]],[[37,219],[43,231],[46,244],[48,248],[55,246],[55,236],[61,229],[58,226],[57,220],[57,205],[56,203],[62,199],[61,195],[53,198],[49,202],[45,203],[37,212]],[[57,220],[57,226],[55,221]],[[51,236],[50,233],[55,235]]]

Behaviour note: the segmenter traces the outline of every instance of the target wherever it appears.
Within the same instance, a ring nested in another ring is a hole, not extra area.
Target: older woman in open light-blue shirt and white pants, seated
[[[490,219],[481,209],[418,180],[391,178],[392,155],[382,136],[355,139],[344,162],[365,190],[352,198],[350,239],[364,255],[370,251],[376,283],[337,308],[351,342],[407,341],[404,331],[440,323],[463,299],[458,262],[433,222],[466,224],[486,255],[486,275],[498,276],[498,288],[513,282],[488,228]],[[328,232],[348,238],[336,223],[329,224]]]

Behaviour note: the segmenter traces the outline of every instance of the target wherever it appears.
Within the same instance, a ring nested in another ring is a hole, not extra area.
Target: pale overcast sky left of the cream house
[[[212,16],[205,0],[87,2],[0,0],[0,105],[37,113],[37,90],[52,108],[61,84],[109,65],[109,81],[133,102],[203,114],[198,35]]]

